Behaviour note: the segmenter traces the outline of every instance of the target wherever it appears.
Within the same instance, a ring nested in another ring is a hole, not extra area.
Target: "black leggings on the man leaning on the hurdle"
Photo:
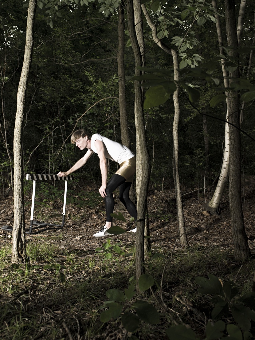
[[[120,187],[120,201],[125,205],[129,214],[136,220],[137,219],[137,211],[134,203],[129,198],[129,190],[131,187],[131,182],[126,182],[126,179],[118,174],[114,174],[110,181],[107,183],[106,197],[105,197],[105,209],[106,209],[106,222],[112,222],[112,217],[110,214],[113,213],[114,209],[114,198],[113,198],[113,191]]]

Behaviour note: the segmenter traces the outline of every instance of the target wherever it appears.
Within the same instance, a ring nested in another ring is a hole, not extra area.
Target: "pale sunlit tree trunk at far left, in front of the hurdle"
[[[36,0],[30,0],[29,2],[28,20],[26,26],[26,45],[17,92],[17,111],[14,129],[14,224],[12,234],[12,262],[15,263],[25,262],[26,260],[22,135],[25,91],[28,83],[29,70],[32,62],[32,53],[34,46],[33,31],[36,2]]]

